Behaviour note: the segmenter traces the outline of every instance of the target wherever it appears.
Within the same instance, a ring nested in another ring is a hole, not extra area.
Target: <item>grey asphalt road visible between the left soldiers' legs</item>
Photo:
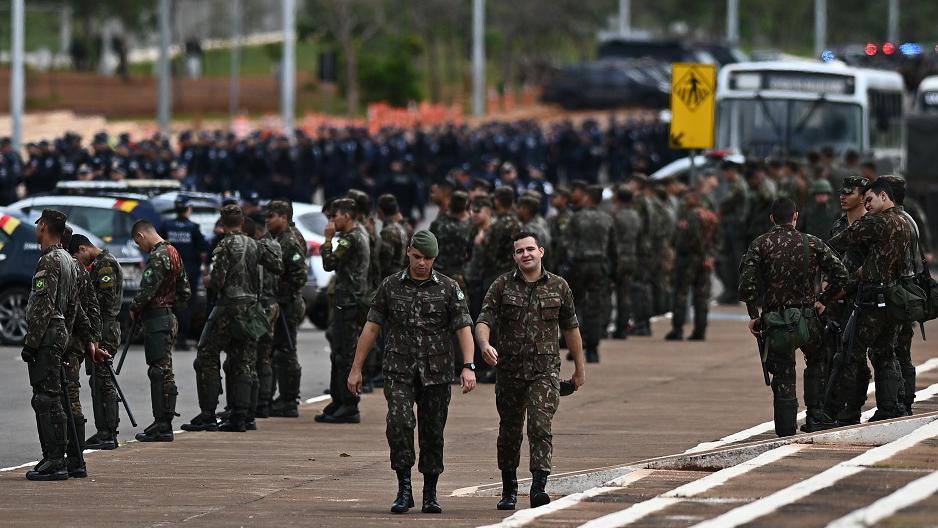
[[[329,350],[325,334],[308,322],[300,329],[298,341],[300,364],[303,366],[300,397],[305,400],[321,395],[329,386]],[[19,347],[0,347],[0,467],[23,464],[38,460],[42,456],[39,437],[36,434],[35,415],[29,403],[32,392],[26,374],[26,364],[20,359],[20,350]],[[199,412],[195,395],[195,372],[192,369],[194,359],[194,346],[189,352],[176,351],[173,354],[173,369],[176,373],[176,385],[179,387],[176,412],[182,415],[173,422],[176,430]],[[146,371],[143,347],[132,346],[118,381],[130,402],[138,427],[131,427],[130,420],[121,408],[121,440],[133,438],[153,421]],[[91,390],[87,381],[87,376],[83,375],[82,408],[88,418],[86,431],[90,436],[95,429],[91,411]],[[224,398],[222,395],[219,407],[224,407]]]

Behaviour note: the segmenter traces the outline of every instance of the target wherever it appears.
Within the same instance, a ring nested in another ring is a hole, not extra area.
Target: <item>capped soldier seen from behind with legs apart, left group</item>
[[[241,231],[243,217],[237,205],[222,207],[221,222],[225,237],[212,251],[208,283],[216,303],[205,322],[193,362],[201,412],[183,424],[184,431],[244,432],[257,376],[255,343],[247,331],[252,323],[249,309],[258,295],[257,244]],[[219,425],[215,408],[222,393],[222,351],[227,355],[230,413]]]

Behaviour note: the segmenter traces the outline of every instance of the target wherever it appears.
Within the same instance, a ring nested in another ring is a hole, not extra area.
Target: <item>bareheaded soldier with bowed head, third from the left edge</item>
[[[118,316],[124,297],[124,274],[114,255],[100,249],[85,235],[72,235],[69,251],[88,268],[101,317],[101,340],[97,348],[114,356],[121,343]],[[106,360],[110,363],[110,359]],[[118,414],[117,390],[111,380],[109,365],[95,364],[91,368],[91,401],[97,432],[85,441],[87,449],[117,449]]]

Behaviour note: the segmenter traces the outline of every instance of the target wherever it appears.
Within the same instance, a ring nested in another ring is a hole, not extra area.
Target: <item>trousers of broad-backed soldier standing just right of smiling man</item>
[[[583,347],[587,350],[599,346],[606,336],[611,312],[611,285],[605,262],[581,261],[573,266],[570,287],[580,320]]]

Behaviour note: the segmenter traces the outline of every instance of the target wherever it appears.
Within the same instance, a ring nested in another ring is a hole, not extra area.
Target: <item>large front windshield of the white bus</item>
[[[860,105],[818,99],[724,99],[717,111],[720,148],[747,156],[800,156],[832,147],[862,150]]]

